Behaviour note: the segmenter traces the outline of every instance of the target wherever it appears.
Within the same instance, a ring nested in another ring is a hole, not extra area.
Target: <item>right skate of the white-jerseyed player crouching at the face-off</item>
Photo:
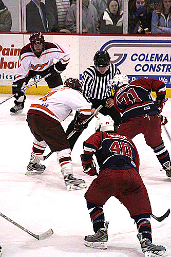
[[[83,179],[75,178],[72,174],[65,174],[64,182],[67,187],[67,190],[78,190],[87,187]]]

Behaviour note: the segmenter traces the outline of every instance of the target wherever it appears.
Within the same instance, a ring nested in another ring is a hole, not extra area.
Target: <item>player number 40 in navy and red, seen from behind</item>
[[[84,173],[97,175],[93,154],[99,164],[99,175],[85,194],[87,208],[96,234],[85,236],[88,247],[107,248],[107,227],[103,206],[115,196],[127,208],[135,220],[141,248],[146,256],[167,256],[165,247],[152,244],[150,214],[151,206],[147,190],[139,175],[139,155],[134,143],[126,136],[114,132],[109,116],[98,118],[96,133],[84,142],[81,155]],[[154,255],[149,255],[153,253]]]

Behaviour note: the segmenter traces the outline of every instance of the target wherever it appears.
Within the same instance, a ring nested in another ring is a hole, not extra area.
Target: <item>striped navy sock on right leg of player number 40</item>
[[[138,232],[142,233],[143,238],[147,238],[149,239],[150,242],[152,242],[150,214],[144,213],[144,214],[132,216],[131,218],[134,218],[135,223],[137,224]]]

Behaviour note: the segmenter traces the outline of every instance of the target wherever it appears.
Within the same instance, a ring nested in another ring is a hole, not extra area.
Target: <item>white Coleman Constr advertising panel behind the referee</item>
[[[111,62],[131,81],[139,78],[156,78],[162,80],[167,88],[171,84],[171,37],[138,36],[99,36],[94,39],[82,38],[80,57],[80,78],[82,72],[93,65],[93,56],[97,50],[107,50]],[[85,47],[86,46],[86,47]]]

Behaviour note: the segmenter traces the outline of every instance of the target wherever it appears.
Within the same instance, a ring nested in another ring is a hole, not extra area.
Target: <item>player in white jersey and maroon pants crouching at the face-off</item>
[[[81,91],[80,81],[68,78],[63,88],[51,90],[31,104],[27,122],[34,135],[34,142],[26,175],[36,175],[45,171],[45,166],[39,162],[43,159],[43,153],[48,145],[50,150],[57,154],[67,190],[86,188],[84,180],[73,177],[71,150],[61,125],[74,109],[78,113],[74,127],[77,130],[82,126],[82,121],[94,111]]]

